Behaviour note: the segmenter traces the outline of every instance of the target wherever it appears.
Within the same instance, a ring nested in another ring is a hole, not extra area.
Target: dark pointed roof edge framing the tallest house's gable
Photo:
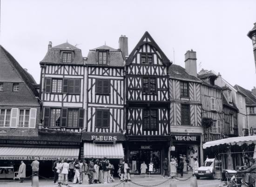
[[[144,39],[148,38],[146,41],[144,41]],[[134,58],[134,53],[135,51],[144,44],[148,44],[151,45],[152,47],[154,47],[161,55],[162,58],[162,63],[165,64],[166,66],[170,66],[172,63],[170,62],[170,60],[167,58],[167,56],[162,52],[161,48],[155,43],[155,40],[150,36],[150,34],[148,33],[148,31],[146,31],[142,38],[140,39],[139,43],[135,46],[135,48],[133,49],[133,51],[130,53],[128,59],[126,59],[126,65],[129,65],[132,63],[133,58]]]

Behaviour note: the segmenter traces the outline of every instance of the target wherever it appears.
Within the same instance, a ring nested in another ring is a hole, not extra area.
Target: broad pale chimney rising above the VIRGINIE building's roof
[[[196,52],[194,52],[193,49],[185,53],[185,71],[189,75],[197,77]]]

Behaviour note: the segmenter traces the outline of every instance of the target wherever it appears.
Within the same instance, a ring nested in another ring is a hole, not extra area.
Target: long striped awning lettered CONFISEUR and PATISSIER
[[[0,160],[74,160],[78,158],[79,148],[14,148],[0,147]]]

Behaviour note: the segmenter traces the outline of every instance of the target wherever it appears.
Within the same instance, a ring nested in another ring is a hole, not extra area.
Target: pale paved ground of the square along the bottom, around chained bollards
[[[178,179],[186,179],[186,177],[189,177],[188,174],[184,175],[184,178],[178,178]],[[153,175],[152,178],[144,178],[142,175],[135,175],[132,177],[132,181],[141,184],[141,185],[156,185],[160,184],[163,181],[167,181],[168,179],[163,179],[161,175]],[[19,181],[12,181],[12,182],[7,182],[8,180],[0,180],[0,187],[31,187],[31,180],[26,180],[24,183],[19,183]],[[111,182],[108,184],[72,184],[71,182],[68,183],[69,186],[71,187],[113,187],[117,185],[120,181],[117,179],[115,182]],[[175,180],[177,187],[190,187],[190,179],[187,181],[178,181]],[[218,187],[221,182],[219,180],[209,180],[209,179],[200,179],[197,180],[198,187]],[[39,180],[39,187],[58,187],[58,185],[54,185],[53,181],[50,180],[45,180],[45,179],[40,179]],[[66,187],[62,185],[62,187]],[[116,187],[123,187],[122,184],[119,184]],[[133,183],[131,183],[130,187],[139,187]],[[158,187],[169,187],[169,181],[159,185]]]

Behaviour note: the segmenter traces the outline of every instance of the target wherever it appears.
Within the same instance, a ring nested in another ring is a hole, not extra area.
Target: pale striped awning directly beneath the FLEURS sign
[[[123,146],[121,143],[115,145],[94,145],[93,143],[84,143],[85,158],[124,158]]]

